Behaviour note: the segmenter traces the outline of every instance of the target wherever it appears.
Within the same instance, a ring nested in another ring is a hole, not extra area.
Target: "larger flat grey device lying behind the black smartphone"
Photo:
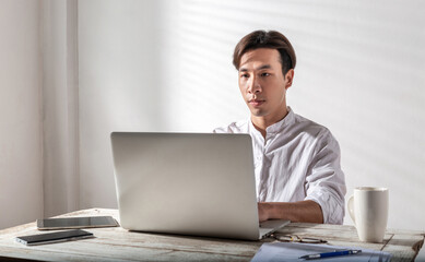
[[[111,216],[87,216],[87,217],[64,217],[37,219],[39,230],[47,229],[75,229],[93,227],[115,227],[119,226]]]

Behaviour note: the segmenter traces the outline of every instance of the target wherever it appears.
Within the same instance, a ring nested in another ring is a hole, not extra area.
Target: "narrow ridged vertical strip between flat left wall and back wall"
[[[44,215],[79,207],[78,1],[42,1]]]

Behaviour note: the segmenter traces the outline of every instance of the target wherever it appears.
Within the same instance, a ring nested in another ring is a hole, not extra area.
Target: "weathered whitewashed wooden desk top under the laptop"
[[[93,209],[66,216],[111,215],[117,210]],[[26,247],[16,236],[38,234],[35,223],[0,230],[0,261],[250,261],[263,242],[130,233],[120,227],[87,229],[96,238]],[[359,242],[352,226],[293,223],[284,234],[321,238],[330,245],[383,250],[392,261],[413,261],[424,242],[425,231],[387,230],[383,243]],[[10,259],[8,259],[10,258]]]

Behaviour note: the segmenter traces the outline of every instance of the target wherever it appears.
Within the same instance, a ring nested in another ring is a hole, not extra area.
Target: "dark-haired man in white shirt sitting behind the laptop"
[[[233,63],[251,116],[214,132],[249,133],[260,222],[342,224],[344,174],[331,132],[286,106],[295,51],[279,32],[256,31],[236,45]]]

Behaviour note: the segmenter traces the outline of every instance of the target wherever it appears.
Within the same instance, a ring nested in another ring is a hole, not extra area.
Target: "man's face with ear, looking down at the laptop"
[[[279,121],[286,115],[286,90],[294,70],[284,76],[280,53],[259,48],[244,53],[239,64],[239,88],[252,117]]]

